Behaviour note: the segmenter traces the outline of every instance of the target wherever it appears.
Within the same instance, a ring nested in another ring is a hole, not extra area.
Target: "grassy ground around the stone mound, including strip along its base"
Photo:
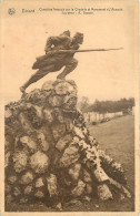
[[[131,115],[118,117],[110,122],[87,125],[90,134],[99,142],[99,147],[104,150],[116,162],[122,164],[126,169],[128,185],[132,198],[123,200],[93,200],[83,202],[72,206],[66,206],[64,212],[133,212],[134,210],[134,117]],[[17,205],[11,204],[10,210],[19,212],[53,212],[44,204]]]

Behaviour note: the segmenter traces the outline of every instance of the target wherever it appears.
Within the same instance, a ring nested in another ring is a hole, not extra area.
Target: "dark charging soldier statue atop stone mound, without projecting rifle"
[[[59,37],[50,37],[46,44],[46,55],[37,58],[32,69],[39,69],[28,82],[26,82],[20,91],[26,92],[26,89],[47,75],[48,73],[57,72],[64,66],[63,71],[57,76],[57,79],[64,79],[67,74],[72,72],[77,65],[78,60],[73,58],[74,51],[77,51],[83,42],[83,33],[77,32],[73,38],[70,38],[70,31],[64,31]],[[60,52],[64,51],[64,52]]]

